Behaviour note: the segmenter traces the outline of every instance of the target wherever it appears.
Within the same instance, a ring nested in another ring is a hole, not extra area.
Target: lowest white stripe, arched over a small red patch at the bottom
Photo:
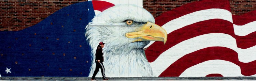
[[[221,74],[224,77],[240,76],[241,69],[238,65],[224,60],[205,61],[186,69],[179,77],[205,77],[209,74]],[[256,75],[252,75],[255,77]]]

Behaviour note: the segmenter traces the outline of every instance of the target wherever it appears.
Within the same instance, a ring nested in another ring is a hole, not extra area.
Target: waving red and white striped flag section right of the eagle
[[[153,75],[255,76],[255,14],[232,15],[228,0],[202,0],[163,13],[155,20],[168,40],[152,42],[145,51]]]

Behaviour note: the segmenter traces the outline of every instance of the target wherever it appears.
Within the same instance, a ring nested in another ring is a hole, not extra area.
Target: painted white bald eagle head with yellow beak
[[[143,47],[150,41],[167,41],[166,31],[154,23],[154,17],[137,5],[115,5],[95,16],[85,34],[92,48],[89,76],[95,70],[99,42],[106,43],[103,64],[107,77],[152,76]]]

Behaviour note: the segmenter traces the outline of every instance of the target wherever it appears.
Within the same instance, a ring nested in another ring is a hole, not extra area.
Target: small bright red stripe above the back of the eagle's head
[[[100,12],[114,6],[114,4],[106,2],[106,1],[92,0],[91,2],[93,3],[93,9],[100,11]]]

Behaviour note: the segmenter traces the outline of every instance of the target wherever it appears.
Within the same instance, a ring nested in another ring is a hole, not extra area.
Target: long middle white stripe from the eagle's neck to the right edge
[[[232,36],[223,33],[210,33],[183,41],[159,55],[154,62],[150,63],[154,73],[153,76],[159,76],[173,62],[186,54],[215,46],[227,47],[236,51],[238,53],[238,59],[241,62],[256,60],[256,46],[247,49],[237,48],[236,39]]]

